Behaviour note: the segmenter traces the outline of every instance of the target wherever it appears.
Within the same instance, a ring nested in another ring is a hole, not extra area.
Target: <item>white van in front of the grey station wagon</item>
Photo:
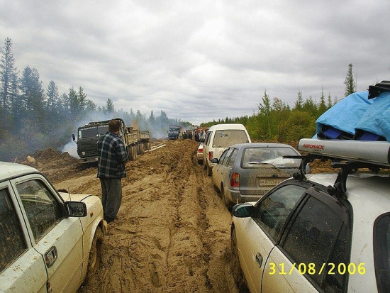
[[[212,175],[214,165],[211,160],[213,160],[214,157],[219,158],[222,155],[223,150],[236,143],[252,143],[243,124],[216,124],[208,129],[203,151],[204,170],[207,170],[208,176]]]

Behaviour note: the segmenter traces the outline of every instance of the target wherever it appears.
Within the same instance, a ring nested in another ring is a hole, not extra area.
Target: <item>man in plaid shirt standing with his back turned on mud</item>
[[[108,132],[97,142],[99,154],[98,174],[101,184],[101,203],[104,220],[112,222],[118,214],[122,201],[122,178],[126,177],[128,155],[119,137],[121,121],[108,122]]]

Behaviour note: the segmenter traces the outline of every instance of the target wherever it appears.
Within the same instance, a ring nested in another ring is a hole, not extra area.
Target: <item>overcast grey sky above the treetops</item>
[[[194,124],[390,79],[389,0],[0,0],[20,72]]]

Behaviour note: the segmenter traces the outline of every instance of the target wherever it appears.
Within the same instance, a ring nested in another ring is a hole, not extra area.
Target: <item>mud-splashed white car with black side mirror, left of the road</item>
[[[99,267],[105,232],[99,197],[0,162],[0,292],[76,292]]]

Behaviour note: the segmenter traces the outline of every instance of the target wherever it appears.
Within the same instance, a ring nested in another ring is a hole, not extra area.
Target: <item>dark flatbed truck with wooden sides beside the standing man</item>
[[[149,131],[140,131],[137,127],[126,126],[122,118],[114,118],[121,122],[119,136],[128,152],[128,159],[135,160],[138,155],[143,155],[145,150],[150,150],[150,133]],[[108,131],[108,122],[93,121],[77,128],[77,141],[74,134],[72,135],[74,143],[77,143],[77,154],[82,163],[97,162],[99,160],[98,150],[96,147],[99,136]]]

